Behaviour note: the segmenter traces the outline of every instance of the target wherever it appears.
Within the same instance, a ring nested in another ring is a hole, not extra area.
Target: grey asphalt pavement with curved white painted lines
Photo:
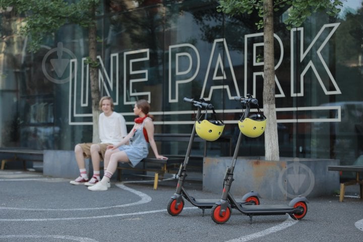
[[[348,187],[341,203],[335,195],[308,197],[308,213],[302,220],[254,216],[250,224],[249,216],[233,209],[226,223],[216,224],[211,209],[202,216],[202,210],[188,201],[179,215],[167,213],[175,192],[173,179],[160,181],[156,191],[148,180],[112,180],[104,192],[69,181],[40,172],[1,170],[0,241],[363,241],[358,186]],[[221,191],[203,192],[200,181],[187,179],[185,187],[196,198],[220,198]],[[261,204],[288,202],[261,198]]]

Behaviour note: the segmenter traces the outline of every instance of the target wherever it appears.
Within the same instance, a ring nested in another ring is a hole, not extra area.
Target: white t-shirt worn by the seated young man
[[[98,117],[98,128],[101,143],[116,145],[127,136],[125,118],[117,112],[109,116],[102,112]]]

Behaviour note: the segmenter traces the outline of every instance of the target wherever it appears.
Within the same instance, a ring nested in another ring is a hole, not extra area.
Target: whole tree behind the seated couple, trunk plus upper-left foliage
[[[100,0],[80,0],[67,3],[64,0],[0,0],[0,9],[14,8],[17,15],[24,16],[24,25],[20,34],[29,36],[29,49],[33,52],[40,48],[43,41],[52,36],[65,24],[79,24],[88,28],[88,64],[90,66],[90,84],[93,116],[93,142],[98,142],[98,62],[96,10]]]

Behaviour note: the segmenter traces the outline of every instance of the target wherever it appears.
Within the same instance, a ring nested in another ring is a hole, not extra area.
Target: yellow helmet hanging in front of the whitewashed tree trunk
[[[262,114],[252,114],[244,120],[238,120],[238,128],[242,134],[250,138],[257,138],[265,132],[266,117]]]

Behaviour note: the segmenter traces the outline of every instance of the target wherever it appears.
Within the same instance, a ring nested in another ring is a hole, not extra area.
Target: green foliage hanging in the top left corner
[[[99,0],[80,0],[69,4],[64,0],[0,0],[0,9],[14,7],[18,15],[24,16],[21,35],[29,36],[29,49],[36,51],[43,40],[52,36],[65,24],[89,27],[94,23],[93,6]]]

